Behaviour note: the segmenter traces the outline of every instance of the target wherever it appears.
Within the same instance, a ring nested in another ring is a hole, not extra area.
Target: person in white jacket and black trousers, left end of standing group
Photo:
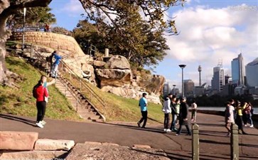
[[[163,102],[162,111],[164,112],[164,132],[171,132],[171,129],[168,129],[170,122],[169,114],[171,114],[171,97],[172,94],[168,94],[168,97],[166,97]]]

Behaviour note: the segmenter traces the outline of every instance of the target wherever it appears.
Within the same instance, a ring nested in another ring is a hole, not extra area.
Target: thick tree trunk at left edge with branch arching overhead
[[[23,7],[48,6],[51,0],[1,0],[0,1],[0,84],[10,85],[8,76],[11,75],[6,69],[6,40],[11,32],[6,28],[9,16],[16,14]]]

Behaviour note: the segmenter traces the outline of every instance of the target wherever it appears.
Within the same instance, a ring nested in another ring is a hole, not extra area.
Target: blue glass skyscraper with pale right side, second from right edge
[[[232,82],[237,85],[244,85],[244,58],[240,53],[237,58],[231,61]]]

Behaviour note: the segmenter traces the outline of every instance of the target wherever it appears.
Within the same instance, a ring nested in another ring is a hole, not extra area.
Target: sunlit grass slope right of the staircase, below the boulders
[[[68,76],[69,78],[69,76]],[[80,81],[78,78],[72,78],[70,80],[75,87],[79,88]],[[86,81],[85,81],[86,82]],[[90,85],[90,84],[89,84]],[[83,86],[83,85],[82,85]],[[97,107],[98,110],[106,117],[107,121],[119,121],[119,122],[137,122],[141,117],[141,110],[139,107],[139,100],[120,97],[109,92],[102,92],[98,87],[91,85],[97,95],[100,95],[105,101],[105,107],[82,87],[82,94],[87,97],[90,102]],[[148,106],[149,123],[163,122],[163,112],[161,111],[161,105],[150,103]]]

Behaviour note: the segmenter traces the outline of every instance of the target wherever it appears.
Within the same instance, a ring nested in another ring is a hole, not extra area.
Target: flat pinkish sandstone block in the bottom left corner
[[[36,132],[0,132],[0,149],[33,150],[38,139]]]

